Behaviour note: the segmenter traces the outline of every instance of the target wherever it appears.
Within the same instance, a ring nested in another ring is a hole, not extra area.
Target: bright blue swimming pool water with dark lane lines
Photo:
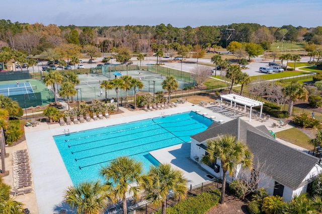
[[[194,112],[102,127],[54,136],[73,184],[101,178],[99,170],[109,161],[129,156],[143,162],[148,171],[158,162],[150,151],[190,142],[212,121]]]

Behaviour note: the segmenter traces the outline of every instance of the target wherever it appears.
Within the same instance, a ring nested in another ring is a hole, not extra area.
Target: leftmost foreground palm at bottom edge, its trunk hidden
[[[69,186],[64,192],[65,202],[79,214],[97,214],[113,201],[112,188],[97,180]]]

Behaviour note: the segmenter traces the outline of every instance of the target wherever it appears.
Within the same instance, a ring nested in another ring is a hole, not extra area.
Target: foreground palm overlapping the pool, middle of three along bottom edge
[[[127,213],[126,193],[138,197],[140,185],[143,181],[142,163],[129,157],[119,157],[112,160],[107,166],[102,166],[100,174],[111,182],[115,197],[122,200],[123,213]]]

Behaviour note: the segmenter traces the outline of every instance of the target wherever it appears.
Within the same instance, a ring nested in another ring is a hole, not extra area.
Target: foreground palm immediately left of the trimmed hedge
[[[147,193],[145,198],[156,206],[162,204],[162,214],[166,214],[169,193],[173,193],[176,198],[185,198],[188,191],[187,182],[183,172],[172,168],[170,164],[151,166],[147,182],[144,183]]]

